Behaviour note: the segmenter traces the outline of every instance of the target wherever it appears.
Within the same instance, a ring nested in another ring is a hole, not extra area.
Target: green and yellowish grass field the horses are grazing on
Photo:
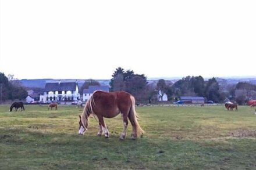
[[[0,105],[0,169],[256,169],[256,116],[240,106],[137,107],[145,134],[119,140],[120,115],[105,119],[110,138],[90,118],[77,135],[82,109]]]

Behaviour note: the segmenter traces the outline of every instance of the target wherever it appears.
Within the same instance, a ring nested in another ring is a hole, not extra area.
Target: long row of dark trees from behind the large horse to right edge
[[[217,79],[212,77],[205,81],[201,76],[187,76],[172,83],[159,79],[156,84],[149,84],[144,74],[134,74],[133,70],[116,68],[109,83],[110,91],[126,91],[136,97],[138,103],[151,103],[162,100],[164,94],[170,102],[179,100],[180,96],[202,96],[215,103],[225,100],[246,104],[256,99],[256,85],[239,82],[223,88]]]

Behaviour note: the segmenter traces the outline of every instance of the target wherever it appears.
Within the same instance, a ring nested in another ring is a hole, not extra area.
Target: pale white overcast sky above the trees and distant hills
[[[255,0],[0,2],[0,72],[15,78],[256,77]]]

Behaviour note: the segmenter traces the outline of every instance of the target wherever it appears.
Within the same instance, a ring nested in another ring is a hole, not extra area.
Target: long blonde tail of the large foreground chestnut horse
[[[141,134],[144,133],[143,129],[141,129],[140,125],[138,124],[137,118],[138,118],[138,114],[135,110],[135,99],[133,96],[131,96],[131,108],[130,108],[130,112],[129,112],[129,118],[131,121],[131,125],[133,125],[135,127],[135,132],[136,134]]]

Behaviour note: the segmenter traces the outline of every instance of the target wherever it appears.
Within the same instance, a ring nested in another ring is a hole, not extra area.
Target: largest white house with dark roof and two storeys
[[[77,101],[80,99],[77,82],[47,82],[41,101]]]

